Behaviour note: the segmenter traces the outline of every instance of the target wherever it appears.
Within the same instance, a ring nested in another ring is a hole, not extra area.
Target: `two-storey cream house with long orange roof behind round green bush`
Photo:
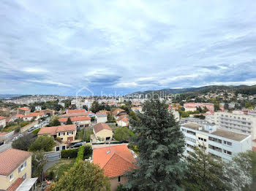
[[[67,145],[75,141],[77,127],[73,125],[59,125],[53,127],[41,128],[37,133],[38,136],[51,136],[55,141],[59,141],[55,147],[56,151],[66,149]]]

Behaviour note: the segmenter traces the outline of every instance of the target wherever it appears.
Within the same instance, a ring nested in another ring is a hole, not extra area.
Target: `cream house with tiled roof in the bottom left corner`
[[[0,190],[35,190],[37,178],[31,178],[32,152],[7,149],[0,152]]]

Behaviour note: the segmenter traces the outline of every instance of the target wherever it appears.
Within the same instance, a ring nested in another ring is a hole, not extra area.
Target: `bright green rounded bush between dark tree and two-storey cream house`
[[[36,152],[36,151],[51,151],[55,142],[52,137],[49,136],[39,136],[37,137],[36,141],[29,147],[29,151]]]

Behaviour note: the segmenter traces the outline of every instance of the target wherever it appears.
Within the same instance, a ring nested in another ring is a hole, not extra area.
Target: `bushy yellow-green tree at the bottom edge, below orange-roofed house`
[[[59,182],[52,184],[51,190],[110,191],[110,182],[98,165],[80,160],[59,179]]]

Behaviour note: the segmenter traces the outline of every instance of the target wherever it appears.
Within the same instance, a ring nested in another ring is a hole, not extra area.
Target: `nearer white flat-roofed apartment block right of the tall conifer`
[[[203,147],[206,152],[222,160],[232,160],[238,152],[252,150],[252,136],[217,128],[216,125],[187,123],[181,125],[186,141],[184,155]]]

